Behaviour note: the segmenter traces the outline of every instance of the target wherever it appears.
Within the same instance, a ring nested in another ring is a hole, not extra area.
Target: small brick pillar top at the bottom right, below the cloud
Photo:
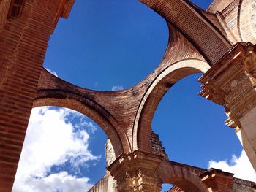
[[[231,173],[222,172],[219,169],[208,169],[200,178],[206,184],[209,191],[212,192],[231,192],[233,185],[233,175]]]

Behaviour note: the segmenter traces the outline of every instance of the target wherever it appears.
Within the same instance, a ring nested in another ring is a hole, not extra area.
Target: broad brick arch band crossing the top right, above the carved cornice
[[[232,46],[225,34],[222,34],[221,30],[203,15],[200,8],[189,1],[140,1],[158,12],[167,23],[178,28],[178,31],[192,42],[210,65],[219,61]]]

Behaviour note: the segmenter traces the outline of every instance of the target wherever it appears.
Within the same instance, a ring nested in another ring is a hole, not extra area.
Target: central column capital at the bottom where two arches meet
[[[108,170],[116,179],[118,191],[159,192],[162,183],[157,169],[161,161],[161,156],[135,151],[121,155]]]

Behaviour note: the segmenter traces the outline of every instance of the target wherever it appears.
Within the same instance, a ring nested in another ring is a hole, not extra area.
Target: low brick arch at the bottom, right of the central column
[[[192,166],[164,161],[159,166],[157,175],[162,183],[176,185],[185,192],[208,192],[207,186],[198,176],[197,169]]]

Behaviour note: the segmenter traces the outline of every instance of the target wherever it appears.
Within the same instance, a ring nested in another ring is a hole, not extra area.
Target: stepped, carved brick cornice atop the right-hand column
[[[225,107],[227,126],[241,126],[239,119],[256,106],[256,48],[238,43],[200,77],[199,95]]]

